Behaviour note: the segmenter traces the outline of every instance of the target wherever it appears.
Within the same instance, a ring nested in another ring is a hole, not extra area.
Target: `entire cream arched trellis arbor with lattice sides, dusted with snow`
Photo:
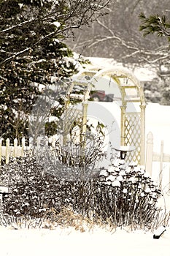
[[[66,105],[70,98],[82,100],[82,131],[81,140],[85,140],[87,108],[90,90],[98,83],[99,78],[112,79],[117,83],[120,91],[121,131],[120,142],[122,146],[135,146],[136,150],[128,154],[128,162],[134,161],[144,165],[145,144],[145,108],[144,92],[139,80],[133,73],[124,67],[110,67],[98,69],[91,67],[83,69],[72,80],[66,96]],[[72,94],[75,85],[84,86],[84,94]],[[130,108],[133,106],[133,108]]]

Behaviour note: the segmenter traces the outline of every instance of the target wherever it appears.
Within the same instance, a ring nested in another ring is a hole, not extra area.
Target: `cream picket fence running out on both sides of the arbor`
[[[56,139],[52,138],[50,141],[51,146],[55,146]],[[47,141],[48,143],[48,141]],[[170,154],[166,154],[163,152],[163,141],[161,141],[160,153],[153,151],[153,135],[152,132],[149,132],[147,135],[147,143],[146,143],[146,154],[145,154],[145,170],[150,173],[150,176],[153,174],[153,168],[155,168],[154,162],[157,162],[157,181],[159,184],[162,183],[163,180],[163,164],[167,163],[168,168],[166,168],[166,182],[170,184]],[[5,163],[9,163],[9,157],[24,157],[25,151],[31,152],[31,142],[26,146],[26,141],[23,138],[21,140],[20,145],[18,144],[18,140],[15,139],[12,146],[10,146],[9,139],[6,140],[5,145],[2,145],[2,139],[0,139],[0,165],[1,161],[4,158]],[[30,153],[31,154],[31,153]],[[165,173],[165,172],[164,172]],[[169,185],[170,189],[170,185]],[[168,190],[169,190],[168,189]]]

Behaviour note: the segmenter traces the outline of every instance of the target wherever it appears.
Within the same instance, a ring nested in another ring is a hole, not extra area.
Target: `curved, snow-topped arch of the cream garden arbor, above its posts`
[[[140,85],[139,80],[134,76],[131,70],[125,67],[109,67],[109,68],[98,68],[96,66],[82,69],[73,77],[72,88],[70,87],[69,93],[72,91],[74,84],[79,83],[85,86],[85,97],[84,101],[88,100],[90,90],[93,89],[98,78],[112,79],[117,83],[117,86],[121,93],[121,101],[123,104],[126,102],[140,102],[141,105],[145,105],[144,91]],[[124,83],[121,80],[126,80]],[[130,80],[130,83],[129,83]],[[127,83],[128,81],[128,83]],[[133,95],[129,94],[129,91],[133,91]]]

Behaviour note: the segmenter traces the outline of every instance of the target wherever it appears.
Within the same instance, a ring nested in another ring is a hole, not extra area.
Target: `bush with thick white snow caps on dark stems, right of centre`
[[[149,226],[155,221],[158,214],[156,203],[161,196],[161,189],[145,172],[144,167],[125,167],[124,160],[117,159],[100,176],[111,197],[111,217],[118,225]]]

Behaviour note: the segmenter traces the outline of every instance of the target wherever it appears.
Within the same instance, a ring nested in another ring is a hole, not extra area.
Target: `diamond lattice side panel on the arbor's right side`
[[[136,150],[128,152],[126,161],[140,164],[140,142],[141,142],[140,113],[125,113],[124,145],[135,146]]]

